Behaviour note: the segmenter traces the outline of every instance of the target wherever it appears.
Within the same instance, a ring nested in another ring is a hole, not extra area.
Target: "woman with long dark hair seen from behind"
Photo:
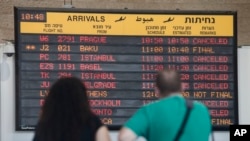
[[[52,85],[33,141],[110,141],[108,129],[91,112],[80,79],[60,78]]]

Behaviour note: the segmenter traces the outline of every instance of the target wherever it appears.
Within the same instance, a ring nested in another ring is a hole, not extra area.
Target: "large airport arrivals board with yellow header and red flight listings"
[[[60,77],[88,88],[92,111],[119,129],[157,100],[155,74],[181,73],[214,130],[238,123],[236,12],[15,8],[16,130],[34,130]]]

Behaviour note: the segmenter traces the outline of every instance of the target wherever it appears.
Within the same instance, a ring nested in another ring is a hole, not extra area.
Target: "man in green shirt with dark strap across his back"
[[[141,107],[125,123],[119,132],[119,141],[134,141],[139,136],[147,141],[209,140],[210,114],[200,102],[192,102],[183,132],[180,132],[179,139],[176,138],[187,112],[187,101],[181,94],[181,78],[176,71],[165,69],[159,72],[156,91],[159,91],[160,99]]]

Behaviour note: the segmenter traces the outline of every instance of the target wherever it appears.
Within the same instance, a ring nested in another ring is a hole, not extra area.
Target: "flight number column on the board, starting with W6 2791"
[[[71,63],[71,44],[75,42],[74,36],[55,36],[51,37],[51,40],[56,45],[49,44],[49,35],[40,35],[39,41],[42,43],[40,46],[40,78],[42,79],[40,84],[39,95],[42,97],[40,105],[44,104],[44,97],[48,94],[48,89],[51,86],[52,78],[58,79],[60,77],[72,76],[71,71],[75,70],[75,64]],[[53,53],[52,53],[53,52]],[[55,62],[51,62],[50,59],[55,58]],[[51,76],[56,74],[56,76]]]

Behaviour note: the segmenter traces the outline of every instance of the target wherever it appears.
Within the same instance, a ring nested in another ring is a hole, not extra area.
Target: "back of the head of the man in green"
[[[164,69],[156,75],[156,87],[161,95],[181,91],[181,78],[177,71]]]

